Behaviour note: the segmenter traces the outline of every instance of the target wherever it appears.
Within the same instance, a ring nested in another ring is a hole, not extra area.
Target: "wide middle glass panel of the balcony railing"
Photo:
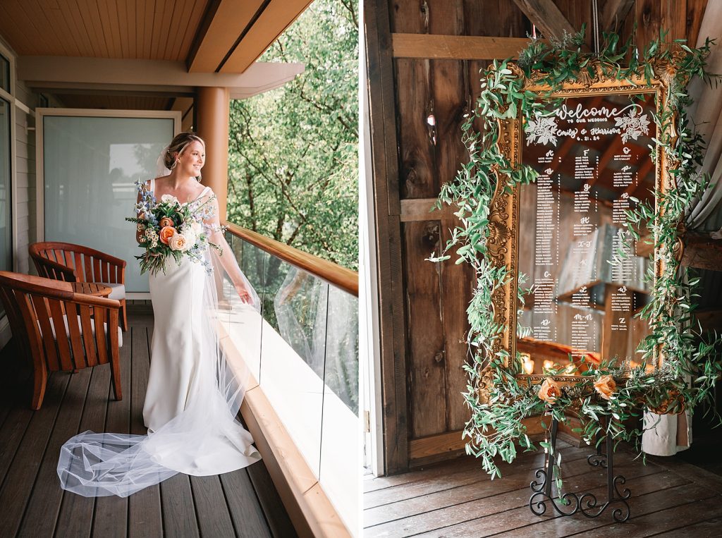
[[[268,260],[262,300],[261,388],[318,477],[329,285]]]

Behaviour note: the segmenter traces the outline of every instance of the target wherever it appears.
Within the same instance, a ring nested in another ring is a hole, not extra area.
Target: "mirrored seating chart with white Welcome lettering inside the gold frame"
[[[523,125],[521,162],[538,174],[518,195],[523,373],[638,364],[649,261],[635,255],[627,212],[653,203],[654,112],[651,93],[570,97]]]

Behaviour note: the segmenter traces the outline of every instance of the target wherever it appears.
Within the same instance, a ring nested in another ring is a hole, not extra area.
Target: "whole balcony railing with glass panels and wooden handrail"
[[[226,225],[238,264],[261,298],[261,315],[232,302],[222,315],[224,329],[253,376],[250,383],[257,383],[307,471],[354,534],[360,502],[358,274]],[[300,490],[313,487],[309,479],[301,479]]]

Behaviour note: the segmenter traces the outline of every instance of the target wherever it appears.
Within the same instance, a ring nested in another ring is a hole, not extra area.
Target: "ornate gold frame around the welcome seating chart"
[[[618,80],[612,74],[605,74],[599,63],[591,62],[592,68],[596,71],[596,77],[592,79],[586,70],[582,70],[582,76],[578,82],[563,84],[560,90],[549,93],[550,87],[538,84],[535,81],[541,79],[543,74],[536,73],[531,79],[524,80],[523,91],[535,92],[539,99],[554,100],[559,97],[588,97],[593,95],[639,95],[656,94],[656,114],[659,118],[661,111],[671,110],[668,103],[669,82],[673,74],[664,79],[651,79],[649,82],[644,77],[630,77],[630,79]],[[514,74],[524,78],[523,71],[516,64],[508,64]],[[662,71],[669,72],[669,71]],[[521,107],[520,107],[521,110]],[[674,142],[677,134],[674,132],[676,115],[672,115],[670,121],[664,122],[662,126],[657,125],[657,137],[662,140]],[[521,165],[522,140],[521,111],[516,118],[501,119],[498,121],[499,136],[497,148],[507,158],[512,168]],[[674,177],[669,170],[674,169],[672,163],[664,151],[664,147],[658,145],[656,152],[655,183],[656,191],[664,193],[669,188],[674,188]],[[517,308],[517,286],[518,286],[518,222],[519,222],[519,193],[518,185],[508,181],[508,177],[499,173],[497,175],[497,186],[492,197],[489,214],[489,237],[487,239],[487,251],[492,266],[506,266],[509,278],[503,287],[498,288],[492,294],[492,309],[494,322],[497,326],[503,326],[501,338],[495,342],[493,352],[508,352],[508,357],[516,360],[516,308]],[[655,238],[655,243],[656,243]],[[664,270],[663,261],[658,253],[654,256],[655,275],[659,277]],[[661,349],[656,350],[655,362],[661,365]],[[508,363],[506,364],[508,366]],[[529,381],[537,381],[546,378],[534,374],[519,374],[518,378]],[[557,381],[573,382],[581,379],[581,376],[554,376]],[[487,376],[482,375],[482,384],[490,381]],[[483,389],[482,389],[483,390]]]

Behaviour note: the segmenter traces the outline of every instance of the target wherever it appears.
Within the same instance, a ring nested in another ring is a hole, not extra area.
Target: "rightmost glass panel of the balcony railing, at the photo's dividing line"
[[[358,299],[330,286],[319,481],[348,529],[359,523],[358,329]]]

